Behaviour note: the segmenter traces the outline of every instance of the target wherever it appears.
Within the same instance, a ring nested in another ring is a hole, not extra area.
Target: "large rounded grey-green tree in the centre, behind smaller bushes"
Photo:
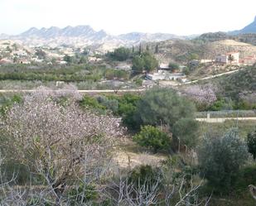
[[[172,127],[182,117],[194,117],[195,105],[172,89],[153,88],[138,101],[135,121],[138,125]]]

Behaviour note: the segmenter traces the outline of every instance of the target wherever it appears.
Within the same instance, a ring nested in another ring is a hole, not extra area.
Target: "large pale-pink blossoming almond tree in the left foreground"
[[[7,137],[2,144],[10,157],[43,176],[56,202],[75,175],[92,175],[95,167],[99,172],[123,132],[117,118],[80,110],[74,96],[64,106],[56,103],[60,93],[47,89],[31,93],[2,119]]]

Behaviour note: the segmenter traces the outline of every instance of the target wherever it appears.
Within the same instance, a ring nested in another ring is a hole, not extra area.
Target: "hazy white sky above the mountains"
[[[90,25],[110,34],[232,31],[254,21],[256,0],[0,0],[0,33]]]

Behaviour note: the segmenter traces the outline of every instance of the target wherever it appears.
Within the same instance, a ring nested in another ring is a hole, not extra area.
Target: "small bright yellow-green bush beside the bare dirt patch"
[[[169,151],[171,147],[171,137],[162,132],[160,128],[152,126],[141,127],[141,131],[133,137],[140,146],[146,146],[157,151]]]

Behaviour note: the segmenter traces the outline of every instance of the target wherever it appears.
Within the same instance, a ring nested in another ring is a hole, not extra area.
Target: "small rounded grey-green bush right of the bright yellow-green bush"
[[[179,138],[181,145],[194,147],[199,139],[199,123],[191,118],[181,118],[172,127],[173,137]]]

